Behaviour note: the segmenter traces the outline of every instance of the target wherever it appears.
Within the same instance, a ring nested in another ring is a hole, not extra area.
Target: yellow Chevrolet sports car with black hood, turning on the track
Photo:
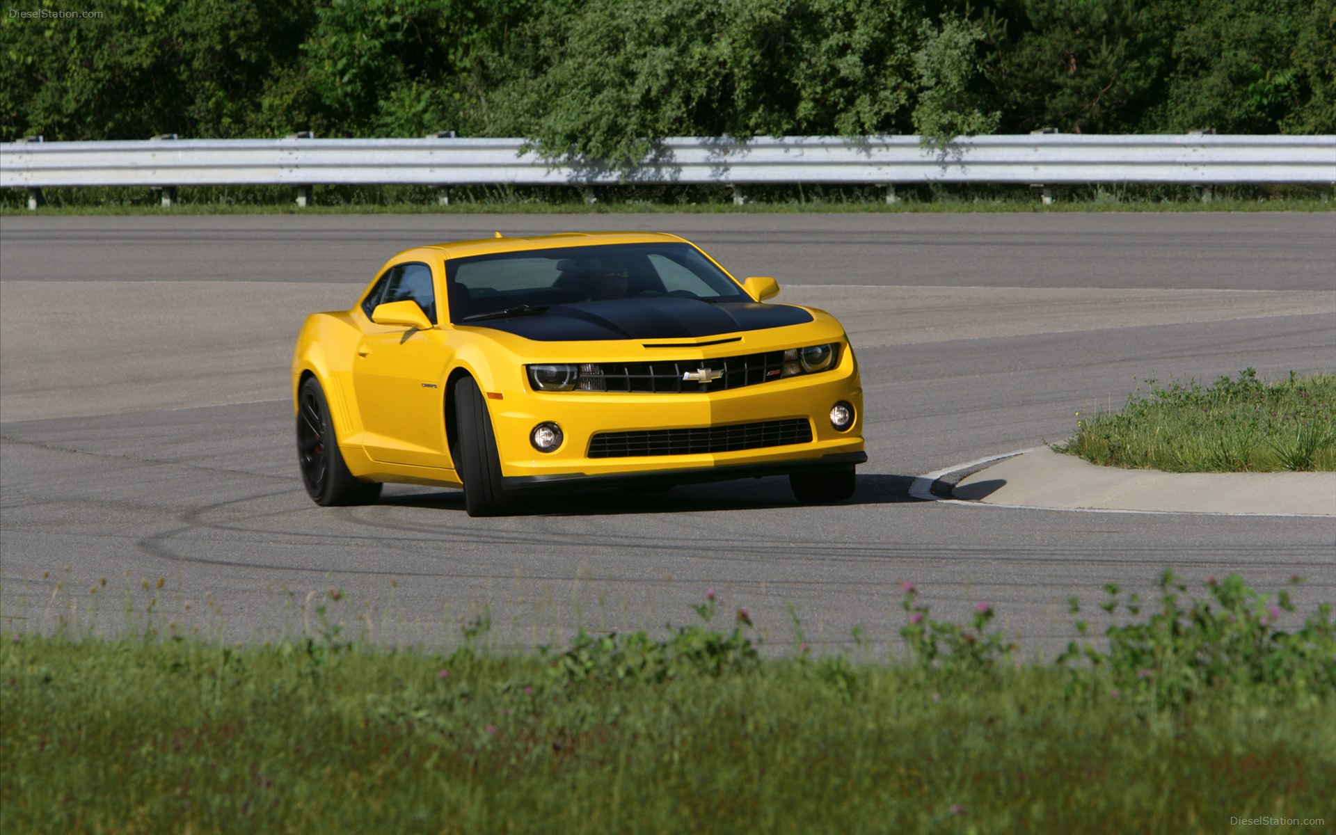
[[[803,502],[848,498],[867,461],[854,350],[776,293],[667,234],[405,250],[302,326],[302,481],[321,505],[462,486],[469,516],[545,488],[774,474]]]

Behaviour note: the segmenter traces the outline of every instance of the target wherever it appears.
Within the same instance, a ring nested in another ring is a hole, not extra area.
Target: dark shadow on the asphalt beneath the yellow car
[[[868,473],[858,476],[854,496],[832,505],[894,505],[918,502],[910,496],[912,476]],[[399,508],[434,508],[464,512],[462,490],[434,490],[386,485],[378,504]],[[560,493],[530,493],[516,516],[617,516],[623,513],[705,513],[720,510],[770,510],[804,506],[794,498],[784,477],[755,481],[715,481],[679,485],[669,490],[620,490],[593,488]]]

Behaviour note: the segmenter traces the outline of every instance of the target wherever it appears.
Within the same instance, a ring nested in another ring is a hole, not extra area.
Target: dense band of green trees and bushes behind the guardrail
[[[0,140],[1336,132],[1336,0],[87,0],[0,17]]]

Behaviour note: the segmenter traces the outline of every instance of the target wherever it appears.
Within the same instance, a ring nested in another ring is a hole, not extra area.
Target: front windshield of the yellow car
[[[628,298],[749,302],[687,243],[573,246],[445,262],[450,321],[534,315],[553,305]]]

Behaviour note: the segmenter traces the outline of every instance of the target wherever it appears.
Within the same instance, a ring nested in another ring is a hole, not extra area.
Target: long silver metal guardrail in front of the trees
[[[1074,135],[671,138],[632,171],[554,164],[520,139],[172,139],[0,144],[0,187],[148,186],[167,204],[178,186],[314,184],[595,186],[914,183],[1336,183],[1336,136]]]

